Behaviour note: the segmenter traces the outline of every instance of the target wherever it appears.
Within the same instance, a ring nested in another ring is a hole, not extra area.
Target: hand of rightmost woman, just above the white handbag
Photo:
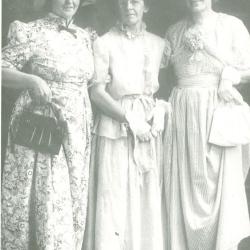
[[[227,79],[221,80],[218,88],[218,95],[220,99],[225,102],[235,102],[236,104],[243,103],[241,94],[233,87],[232,81]]]

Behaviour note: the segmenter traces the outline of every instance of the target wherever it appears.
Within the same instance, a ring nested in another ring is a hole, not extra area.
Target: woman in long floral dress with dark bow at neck
[[[87,207],[93,74],[89,30],[72,23],[80,0],[52,0],[51,13],[14,21],[3,49],[3,83],[22,90],[11,116],[2,176],[2,248],[80,250]],[[22,72],[26,68],[28,73]],[[67,122],[58,155],[15,145],[18,117],[28,106],[47,114],[52,101]]]

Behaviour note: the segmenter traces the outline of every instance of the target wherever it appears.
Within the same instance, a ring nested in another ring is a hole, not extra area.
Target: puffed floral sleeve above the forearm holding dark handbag
[[[19,21],[11,23],[8,44],[2,50],[2,67],[22,70],[31,57],[31,45],[27,24]]]

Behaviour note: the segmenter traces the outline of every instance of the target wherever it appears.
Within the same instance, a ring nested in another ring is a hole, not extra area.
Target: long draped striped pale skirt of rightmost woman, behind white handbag
[[[243,174],[249,147],[208,143],[216,87],[176,87],[170,102],[172,126],[164,141],[167,249],[236,248],[250,234]]]

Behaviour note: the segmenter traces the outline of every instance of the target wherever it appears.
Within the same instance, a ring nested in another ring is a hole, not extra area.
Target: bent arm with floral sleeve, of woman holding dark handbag
[[[2,82],[4,87],[32,90],[36,102],[50,101],[51,91],[47,83],[38,76],[22,72],[32,56],[33,41],[29,39],[26,24],[15,21],[10,25],[9,43],[2,51]]]

